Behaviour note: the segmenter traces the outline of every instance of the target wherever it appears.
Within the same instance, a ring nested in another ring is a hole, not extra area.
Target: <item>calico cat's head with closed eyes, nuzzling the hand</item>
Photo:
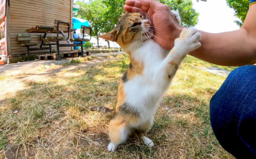
[[[112,31],[99,37],[128,49],[140,46],[152,36],[151,22],[140,13],[129,13],[119,18],[118,24]]]

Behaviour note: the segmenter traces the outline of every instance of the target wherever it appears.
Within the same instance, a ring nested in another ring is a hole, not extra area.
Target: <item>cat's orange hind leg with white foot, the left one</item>
[[[121,143],[126,141],[130,132],[130,129],[122,120],[111,120],[109,123],[109,137],[111,142],[108,145],[108,151],[115,151]]]

